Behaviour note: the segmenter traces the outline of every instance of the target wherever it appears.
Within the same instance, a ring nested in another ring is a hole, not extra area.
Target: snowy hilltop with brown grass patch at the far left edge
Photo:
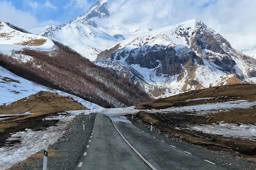
[[[29,34],[9,23],[0,22],[0,52],[11,54],[11,50],[33,48],[49,50],[54,48],[52,40],[38,35]]]

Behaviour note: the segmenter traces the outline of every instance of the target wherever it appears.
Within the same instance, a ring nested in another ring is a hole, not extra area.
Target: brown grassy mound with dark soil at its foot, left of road
[[[70,110],[87,110],[87,108],[72,98],[44,91],[7,106],[0,106],[0,115],[17,115],[7,116],[8,118],[0,120],[0,146],[6,144],[5,140],[11,136],[10,133],[25,131],[26,128],[37,129],[54,126],[58,121],[43,121],[43,119],[48,116],[56,116],[58,112]],[[33,114],[20,115],[26,112]]]

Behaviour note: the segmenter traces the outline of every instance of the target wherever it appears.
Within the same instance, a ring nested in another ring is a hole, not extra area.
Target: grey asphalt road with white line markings
[[[75,170],[228,169],[143,132],[97,114]]]

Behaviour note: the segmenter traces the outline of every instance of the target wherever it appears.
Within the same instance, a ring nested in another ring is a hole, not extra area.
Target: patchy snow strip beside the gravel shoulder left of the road
[[[56,126],[51,126],[45,130],[34,131],[33,129],[25,129],[25,131],[12,134],[7,141],[20,140],[21,142],[0,148],[0,169],[9,168],[13,164],[40,151],[44,146],[56,142],[61,134],[64,133],[63,127],[67,126],[69,121],[76,115],[82,113],[83,111],[69,111],[65,115],[48,117],[44,120],[59,120],[59,122]]]

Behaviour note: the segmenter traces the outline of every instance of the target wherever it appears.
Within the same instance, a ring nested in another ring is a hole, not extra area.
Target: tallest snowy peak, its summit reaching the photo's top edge
[[[106,1],[97,1],[83,15],[71,20],[68,24],[47,28],[38,34],[70,46],[90,60],[94,60],[99,52],[124,40],[121,35],[110,36],[98,29],[94,19],[109,16],[105,8]]]

